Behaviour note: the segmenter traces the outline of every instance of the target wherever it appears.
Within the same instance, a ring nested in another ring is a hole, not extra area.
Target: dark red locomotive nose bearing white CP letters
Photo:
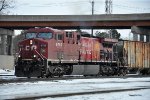
[[[20,56],[23,59],[47,57],[47,42],[40,39],[28,39],[19,44]]]

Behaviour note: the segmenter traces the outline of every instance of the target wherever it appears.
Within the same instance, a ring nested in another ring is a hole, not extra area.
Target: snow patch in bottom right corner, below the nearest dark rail
[[[149,100],[150,89],[137,90],[128,92],[92,94],[92,95],[78,95],[59,98],[42,98],[38,100]]]

